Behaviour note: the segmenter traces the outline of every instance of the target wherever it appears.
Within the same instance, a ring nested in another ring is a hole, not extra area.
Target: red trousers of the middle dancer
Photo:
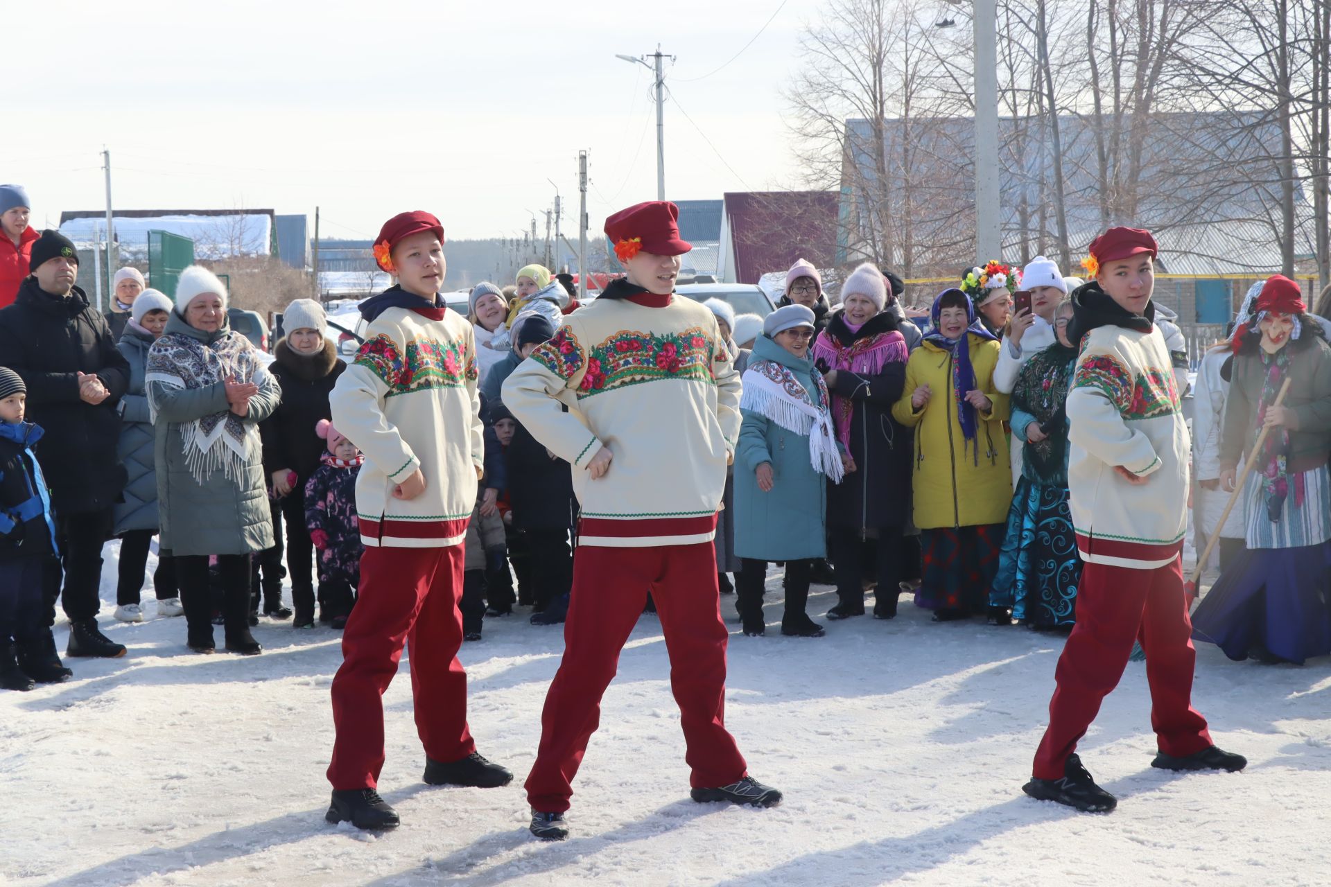
[[[725,730],[725,642],[712,543],[660,548],[579,547],[564,622],[564,657],[540,714],[540,749],[527,798],[540,811],[568,810],[572,779],[600,723],[600,697],[651,592],[669,653],[692,787],[745,775]]]

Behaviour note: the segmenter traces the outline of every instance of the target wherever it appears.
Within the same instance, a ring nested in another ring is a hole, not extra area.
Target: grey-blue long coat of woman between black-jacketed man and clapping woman
[[[116,503],[116,536],[132,529],[156,531],[158,527],[157,472],[153,471],[156,434],[144,388],[150,347],[152,334],[132,326],[125,327],[116,343],[116,348],[129,362],[129,388],[120,398],[120,444],[116,448],[116,456],[125,467],[129,481],[125,484],[124,501]]]

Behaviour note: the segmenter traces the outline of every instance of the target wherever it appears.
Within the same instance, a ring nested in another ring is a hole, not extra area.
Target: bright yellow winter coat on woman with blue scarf
[[[970,336],[970,366],[976,388],[993,402],[990,412],[977,414],[976,440],[961,434],[957,399],[952,392],[949,351],[924,342],[906,363],[906,387],[892,407],[904,426],[916,428],[913,476],[914,523],[921,529],[1002,524],[1012,504],[1012,465],[1008,459],[1009,398],[994,390],[998,343]],[[933,392],[924,410],[910,407],[910,395],[922,384]],[[977,457],[978,445],[978,457]]]

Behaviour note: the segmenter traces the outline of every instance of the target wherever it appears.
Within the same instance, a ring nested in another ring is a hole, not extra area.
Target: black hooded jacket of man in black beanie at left
[[[37,455],[57,513],[110,508],[125,487],[116,456],[118,402],[129,363],[116,350],[101,311],[77,286],[51,295],[27,278],[15,303],[0,310],[0,366],[28,386],[28,419],[45,438]],[[110,396],[97,406],[79,398],[79,374],[96,375]]]

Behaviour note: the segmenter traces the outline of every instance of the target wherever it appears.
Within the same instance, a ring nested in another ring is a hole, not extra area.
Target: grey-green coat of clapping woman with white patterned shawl
[[[204,332],[189,326],[172,311],[164,335],[185,335],[204,343],[222,336],[240,336],[229,323],[217,332]],[[244,348],[253,348],[245,343]],[[217,382],[205,388],[172,388],[149,382],[148,391],[157,407],[154,459],[157,465],[157,499],[161,516],[161,548],[176,557],[189,555],[250,555],[272,548],[273,519],[269,513],[264,483],[264,448],[258,423],[273,415],[282,399],[282,388],[266,370],[254,375],[258,386],[245,416],[249,459],[240,477],[213,471],[202,484],[194,480],[185,464],[182,427],[196,419],[228,410],[226,388]]]

